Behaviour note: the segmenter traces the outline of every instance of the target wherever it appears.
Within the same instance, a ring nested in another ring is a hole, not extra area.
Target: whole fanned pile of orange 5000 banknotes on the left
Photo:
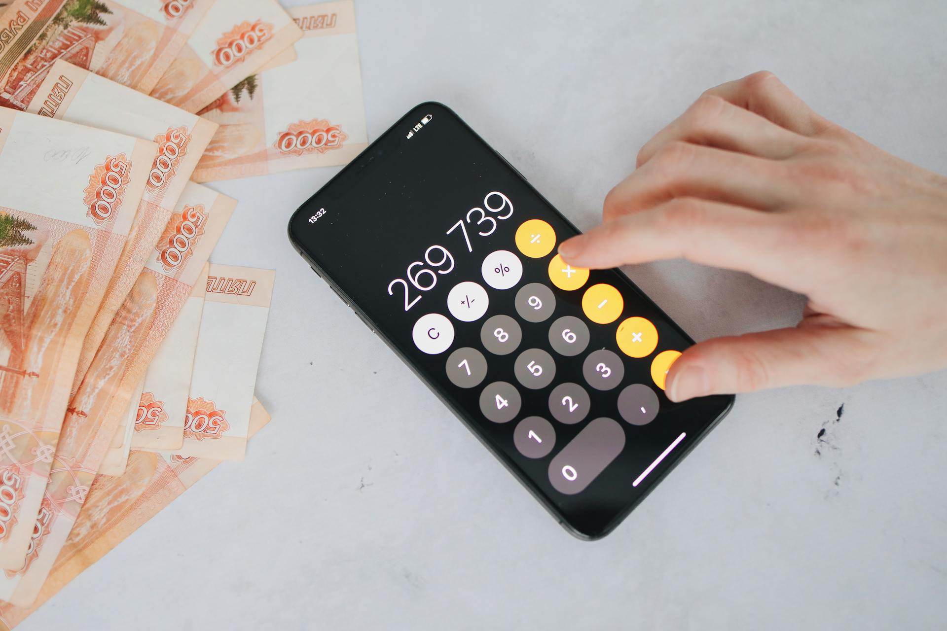
[[[198,183],[366,144],[351,0],[0,0],[0,626],[269,421],[274,272]]]

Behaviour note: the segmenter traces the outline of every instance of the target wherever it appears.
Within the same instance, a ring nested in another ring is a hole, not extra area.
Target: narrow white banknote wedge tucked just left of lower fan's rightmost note
[[[134,424],[133,448],[161,451],[179,449],[184,445],[185,414],[188,412],[197,334],[204,312],[207,270],[205,265],[188,302],[148,367],[142,393],[134,399],[134,418],[130,416]],[[104,466],[102,470],[105,470]]]

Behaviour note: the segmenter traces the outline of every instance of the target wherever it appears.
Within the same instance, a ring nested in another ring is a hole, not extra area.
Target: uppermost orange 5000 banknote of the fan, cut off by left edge
[[[81,341],[157,150],[0,108],[0,568],[35,547]]]

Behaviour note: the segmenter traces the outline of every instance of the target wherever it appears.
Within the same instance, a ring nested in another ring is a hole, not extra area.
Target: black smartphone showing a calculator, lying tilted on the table
[[[607,535],[724,417],[673,403],[694,342],[453,111],[422,103],[290,219],[313,271],[572,534]]]

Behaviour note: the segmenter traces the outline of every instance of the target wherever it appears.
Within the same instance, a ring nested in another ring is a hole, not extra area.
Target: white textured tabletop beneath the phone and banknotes
[[[947,172],[943,2],[357,10],[372,138],[441,100],[583,228],[654,131],[706,87],[763,68]],[[23,629],[947,623],[947,374],[740,396],[613,535],[583,543],[289,247],[290,214],[334,173],[219,185],[241,205],[214,260],[277,269],[258,383],[271,426],[245,463],[214,470]],[[742,274],[629,272],[699,340],[792,324],[800,308]]]

